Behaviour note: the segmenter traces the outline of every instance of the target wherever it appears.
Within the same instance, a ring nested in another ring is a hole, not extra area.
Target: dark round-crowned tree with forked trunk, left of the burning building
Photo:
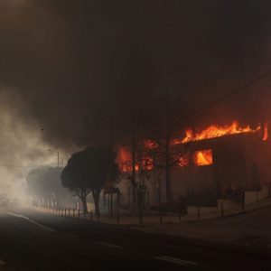
[[[84,212],[88,211],[87,196],[92,192],[95,213],[99,215],[99,196],[106,182],[117,182],[118,165],[116,154],[107,146],[88,147],[72,154],[67,166],[61,173],[62,185],[76,192],[83,203]]]

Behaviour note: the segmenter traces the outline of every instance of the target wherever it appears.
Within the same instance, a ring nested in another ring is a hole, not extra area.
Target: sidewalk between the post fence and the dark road
[[[43,210],[44,211],[44,210]],[[55,210],[54,210],[55,211]],[[65,216],[51,212],[53,215]],[[79,215],[79,216],[78,216]],[[139,216],[120,214],[109,219],[107,215],[97,218],[94,215],[75,212],[73,217],[66,210],[66,217],[84,219],[92,222],[118,225],[127,229],[136,229],[143,232],[153,232],[182,238],[200,238],[209,241],[224,242],[245,246],[271,248],[271,199],[251,203],[242,208],[225,210],[224,217],[220,211],[201,214],[197,216],[183,216],[164,214],[163,223],[159,215],[144,213],[142,220]]]

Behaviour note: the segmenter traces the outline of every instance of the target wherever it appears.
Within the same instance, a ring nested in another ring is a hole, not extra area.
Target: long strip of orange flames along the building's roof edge
[[[250,126],[240,127],[238,122],[233,122],[230,126],[217,126],[212,125],[201,131],[201,133],[193,133],[192,130],[186,130],[186,136],[179,143],[187,143],[191,141],[198,141],[208,138],[220,137],[223,135],[237,135],[244,133],[255,133],[260,130],[260,126],[257,126],[255,130]]]

